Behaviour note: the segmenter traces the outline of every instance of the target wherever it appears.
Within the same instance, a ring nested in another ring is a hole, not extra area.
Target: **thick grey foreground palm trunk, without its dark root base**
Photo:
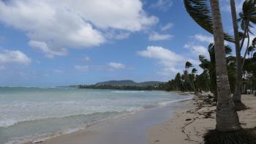
[[[218,93],[216,129],[221,132],[236,131],[241,129],[241,126],[239,124],[239,118],[230,94],[230,85],[227,77],[224,34],[222,18],[219,10],[219,0],[211,0],[211,13],[214,24],[214,45]]]

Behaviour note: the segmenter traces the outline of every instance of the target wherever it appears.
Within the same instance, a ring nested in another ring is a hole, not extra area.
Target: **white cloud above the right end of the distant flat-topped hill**
[[[159,64],[163,67],[157,74],[165,76],[180,72],[180,69],[177,69],[177,67],[179,67],[178,64],[182,64],[184,61],[183,56],[158,46],[148,46],[146,50],[138,51],[138,55],[157,59]]]

